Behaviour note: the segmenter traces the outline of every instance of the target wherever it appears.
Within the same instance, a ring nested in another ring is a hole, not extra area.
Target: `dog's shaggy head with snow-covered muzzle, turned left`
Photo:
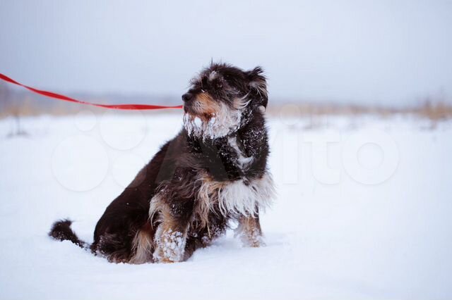
[[[266,77],[261,67],[244,71],[212,63],[191,80],[184,100],[184,127],[189,135],[224,137],[239,129],[268,103]]]

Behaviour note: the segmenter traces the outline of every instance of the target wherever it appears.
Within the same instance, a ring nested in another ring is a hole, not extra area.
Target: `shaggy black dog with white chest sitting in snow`
[[[69,240],[113,263],[186,261],[237,221],[245,246],[263,245],[259,212],[275,189],[268,170],[268,104],[261,67],[211,63],[182,95],[184,126],[106,208],[93,244],[71,220],[49,236]]]

